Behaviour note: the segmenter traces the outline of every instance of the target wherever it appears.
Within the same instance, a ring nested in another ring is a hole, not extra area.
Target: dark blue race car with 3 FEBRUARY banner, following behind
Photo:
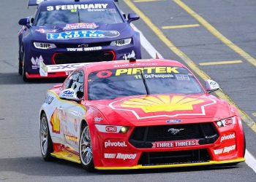
[[[29,6],[37,5],[34,17],[19,21],[18,72],[24,81],[41,77],[40,61],[50,65],[141,58],[140,35],[129,24],[139,16],[124,15],[114,0],[29,0]],[[62,76],[67,74],[48,74]]]

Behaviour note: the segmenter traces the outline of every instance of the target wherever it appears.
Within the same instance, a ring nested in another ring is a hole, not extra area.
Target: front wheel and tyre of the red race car
[[[83,166],[88,171],[94,171],[94,160],[91,146],[91,135],[88,125],[83,127],[79,141],[79,156]]]

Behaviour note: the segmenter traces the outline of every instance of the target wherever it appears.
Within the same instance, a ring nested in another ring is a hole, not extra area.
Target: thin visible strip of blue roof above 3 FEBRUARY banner
[[[113,0],[50,0],[50,1],[42,1],[41,6],[54,6],[54,5],[62,5],[62,4],[97,4],[97,3],[114,3]]]

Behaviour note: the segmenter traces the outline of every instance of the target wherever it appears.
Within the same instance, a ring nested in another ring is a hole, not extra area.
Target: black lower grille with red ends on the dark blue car
[[[53,55],[53,63],[55,64],[90,63],[114,59],[115,54],[113,51],[67,52]]]

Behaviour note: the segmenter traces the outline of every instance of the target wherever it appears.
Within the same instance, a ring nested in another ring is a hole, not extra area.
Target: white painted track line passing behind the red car
[[[135,29],[135,31],[138,31],[140,33],[140,44],[144,49],[148,52],[149,55],[151,55],[152,58],[155,58],[156,52],[159,56],[159,58],[162,58],[162,55],[153,47],[153,45],[146,39],[146,37],[143,35],[143,33],[135,27],[135,25],[132,25],[132,27]],[[246,164],[254,170],[256,173],[256,159],[254,156],[252,156],[249,151],[246,150],[245,153],[245,159],[246,159]]]

